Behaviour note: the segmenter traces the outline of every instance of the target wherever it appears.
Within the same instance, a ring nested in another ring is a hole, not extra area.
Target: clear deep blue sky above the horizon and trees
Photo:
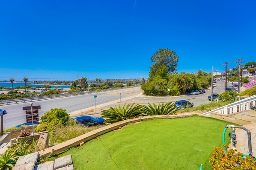
[[[178,72],[224,71],[225,61],[256,61],[255,9],[255,0],[2,0],[0,80],[147,78],[159,48],[176,51]]]

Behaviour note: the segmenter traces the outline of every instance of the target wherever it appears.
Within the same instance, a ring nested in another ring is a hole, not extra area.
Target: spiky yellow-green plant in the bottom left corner
[[[16,152],[6,150],[5,153],[0,155],[0,170],[12,170],[19,156],[15,155]]]

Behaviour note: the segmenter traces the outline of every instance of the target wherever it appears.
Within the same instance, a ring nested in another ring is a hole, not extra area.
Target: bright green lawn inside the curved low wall
[[[224,121],[199,116],[143,121],[60,156],[71,154],[76,170],[199,170],[200,164],[211,170],[209,158],[214,146],[222,146],[224,127]]]

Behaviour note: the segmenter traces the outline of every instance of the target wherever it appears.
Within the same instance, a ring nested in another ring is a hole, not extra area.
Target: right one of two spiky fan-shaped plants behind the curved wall
[[[167,104],[154,104],[153,106],[149,104],[148,106],[143,106],[143,113],[146,115],[173,115],[176,114],[175,104],[170,102]]]

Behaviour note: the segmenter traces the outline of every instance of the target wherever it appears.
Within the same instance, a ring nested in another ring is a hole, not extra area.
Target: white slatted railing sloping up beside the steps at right
[[[226,106],[203,113],[203,115],[210,115],[211,112],[216,112],[216,113],[225,114],[225,115],[231,115],[236,112],[249,110],[252,105],[255,106],[255,102],[256,102],[256,95],[253,95],[248,98],[244,98],[240,101],[236,101],[232,104],[228,104]]]

